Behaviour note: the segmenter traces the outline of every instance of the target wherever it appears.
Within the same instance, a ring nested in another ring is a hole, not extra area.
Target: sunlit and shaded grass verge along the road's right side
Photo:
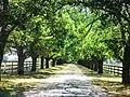
[[[84,74],[92,78],[92,83],[108,91],[112,97],[130,97],[130,86],[121,84],[121,78],[104,72],[99,74],[83,66],[78,66]]]

